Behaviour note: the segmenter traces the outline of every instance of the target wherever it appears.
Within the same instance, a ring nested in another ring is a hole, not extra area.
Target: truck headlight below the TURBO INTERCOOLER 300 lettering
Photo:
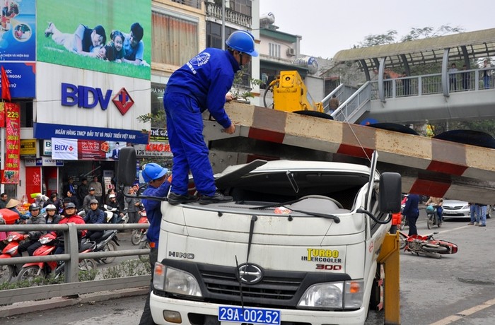
[[[298,302],[305,309],[356,309],[363,304],[363,280],[318,283],[310,286]]]

